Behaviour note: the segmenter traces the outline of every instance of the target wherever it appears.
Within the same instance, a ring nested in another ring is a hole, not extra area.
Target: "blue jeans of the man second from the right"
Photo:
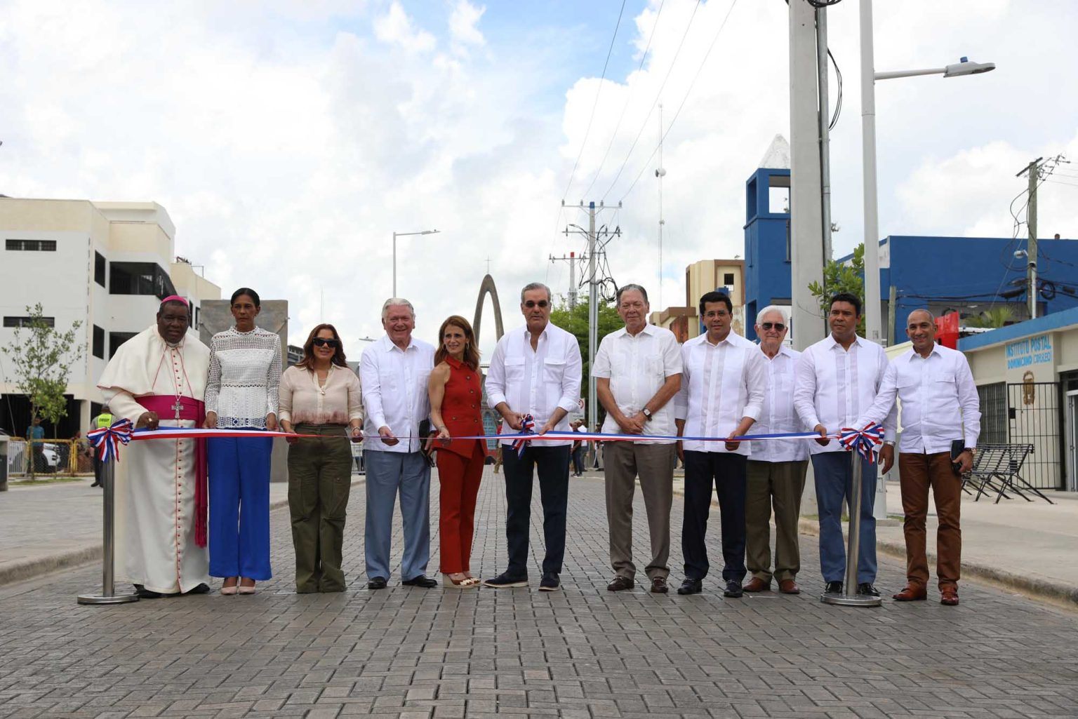
[[[842,507],[848,502],[853,483],[853,462],[861,462],[861,531],[858,540],[857,582],[874,582],[876,466],[851,452],[821,452],[812,456],[816,476],[816,504],[819,508],[819,568],[825,582],[844,581],[846,545],[842,540]]]

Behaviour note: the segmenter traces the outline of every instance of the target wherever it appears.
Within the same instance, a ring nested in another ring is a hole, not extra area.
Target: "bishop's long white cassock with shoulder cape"
[[[202,402],[208,372],[206,345],[191,335],[168,345],[155,323],[116,349],[98,387],[116,418],[135,423],[148,411],[140,398],[164,397],[174,409],[184,398]],[[160,427],[196,426],[175,419],[179,411],[157,414]],[[120,455],[116,573],[162,594],[209,583],[208,553],[195,542],[195,441],[140,440]]]

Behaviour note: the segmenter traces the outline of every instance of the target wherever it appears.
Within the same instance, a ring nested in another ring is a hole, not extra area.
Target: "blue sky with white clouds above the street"
[[[828,11],[837,255],[863,239],[858,4]],[[1010,237],[1015,174],[1062,153],[1039,234],[1078,238],[1076,36],[1073,0],[875,3],[876,70],[997,65],[876,84],[881,236]],[[351,354],[393,232],[439,231],[397,241],[434,342],[487,271],[507,329],[525,284],[565,294],[581,202],[620,229],[613,280],[683,304],[688,264],[744,255],[745,181],[789,138],[784,0],[2,0],[0,78],[0,193],[157,202],[224,296],[288,300],[292,344],[330,321]]]

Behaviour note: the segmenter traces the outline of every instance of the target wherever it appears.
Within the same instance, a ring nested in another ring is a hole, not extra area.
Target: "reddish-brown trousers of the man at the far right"
[[[928,557],[925,555],[925,517],[928,514],[928,488],[936,500],[939,530],[936,534],[936,577],[940,590],[958,583],[962,566],[962,480],[951,470],[951,454],[901,453],[898,472],[902,487],[906,523],[906,578],[911,586],[928,584]]]

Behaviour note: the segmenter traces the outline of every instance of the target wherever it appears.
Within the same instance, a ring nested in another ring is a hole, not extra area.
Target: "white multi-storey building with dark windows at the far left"
[[[199,303],[221,298],[221,288],[176,257],[175,237],[156,203],[0,197],[0,345],[12,343],[26,307],[39,302],[61,331],[82,322],[83,357],[68,383],[60,437],[86,431],[102,400],[97,378],[106,363],[153,322],[163,298],[188,298],[196,330]],[[28,411],[25,399],[12,397],[13,372],[0,356],[0,427],[22,434]]]

